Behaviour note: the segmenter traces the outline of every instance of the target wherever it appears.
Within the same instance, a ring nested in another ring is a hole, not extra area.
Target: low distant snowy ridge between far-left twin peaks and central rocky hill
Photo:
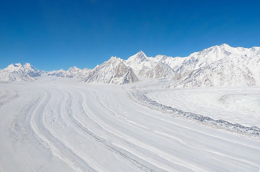
[[[52,73],[49,73],[48,75],[50,76],[56,76],[56,77],[63,77],[63,78],[86,78],[88,75],[88,72],[90,69],[85,68],[85,69],[79,69],[76,66],[70,67],[68,70],[57,70],[53,71]]]

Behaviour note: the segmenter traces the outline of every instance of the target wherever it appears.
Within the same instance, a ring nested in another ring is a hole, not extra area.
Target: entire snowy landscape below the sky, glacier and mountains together
[[[0,172],[258,171],[260,47],[0,70]]]

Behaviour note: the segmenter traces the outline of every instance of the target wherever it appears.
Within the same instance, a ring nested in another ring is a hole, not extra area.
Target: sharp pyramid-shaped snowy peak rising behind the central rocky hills
[[[144,52],[139,51],[137,54],[129,57],[127,60],[124,61],[126,66],[131,67],[135,74],[138,74],[139,71],[142,69],[143,66],[147,66],[149,68],[154,68],[153,58],[149,58],[144,54]]]

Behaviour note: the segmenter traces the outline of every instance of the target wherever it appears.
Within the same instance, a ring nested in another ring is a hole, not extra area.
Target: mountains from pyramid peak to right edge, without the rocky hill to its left
[[[222,44],[183,58],[166,55],[153,58],[140,51],[125,63],[139,76],[173,77],[173,80],[180,81],[181,87],[258,86],[259,54],[260,47],[243,48]]]

